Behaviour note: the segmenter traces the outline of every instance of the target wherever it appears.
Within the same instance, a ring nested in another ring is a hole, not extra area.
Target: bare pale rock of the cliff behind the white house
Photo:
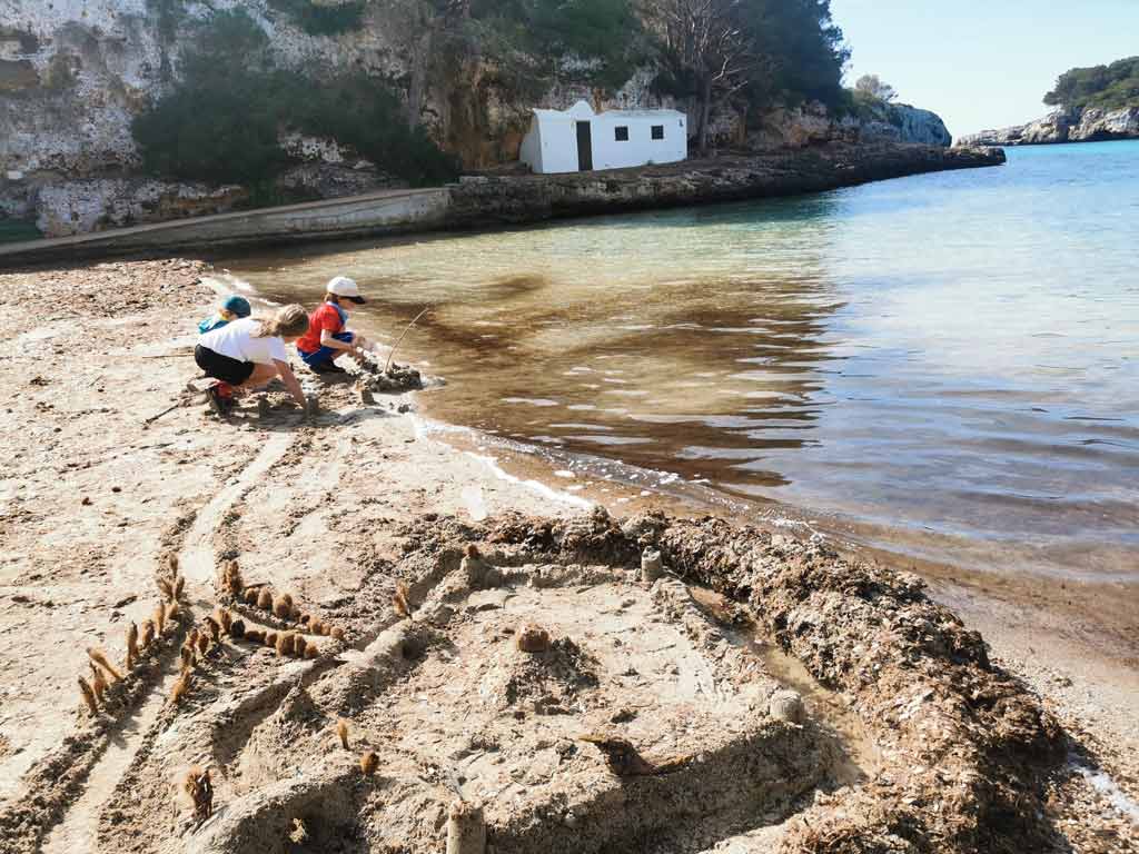
[[[418,80],[421,33],[399,2],[360,5],[359,26],[313,34],[282,0],[0,0],[0,219],[32,220],[48,236],[216,213],[248,206],[241,187],[142,174],[131,134],[139,110],[178,79],[186,34],[218,10],[243,8],[269,35],[274,64],[320,76],[353,68],[410,93],[421,89],[420,121],[466,169],[517,158],[532,107],[678,107],[655,95],[649,71],[611,97],[573,69],[539,97],[523,98],[477,61],[436,80]],[[336,6],[336,3],[326,3]],[[932,113],[891,107],[888,115],[834,118],[818,106],[778,109],[757,128],[741,113],[715,118],[720,145],[770,149],[831,140],[948,145]],[[695,125],[694,125],[695,126]],[[384,164],[333,140],[282,134],[294,166],[278,180],[288,198],[329,198],[393,186]]]

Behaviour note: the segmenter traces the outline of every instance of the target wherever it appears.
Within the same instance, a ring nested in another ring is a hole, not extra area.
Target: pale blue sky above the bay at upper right
[[[1139,0],[830,0],[853,50],[847,85],[877,74],[960,137],[1048,113],[1068,68],[1139,55]]]

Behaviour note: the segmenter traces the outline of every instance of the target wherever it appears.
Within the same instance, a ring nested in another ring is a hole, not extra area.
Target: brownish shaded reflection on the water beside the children
[[[426,401],[443,420],[771,487],[787,478],[768,453],[818,441],[833,402],[826,370],[843,359],[828,332],[842,301],[820,248],[779,227],[827,207],[776,205],[767,222],[737,207],[671,212],[352,251],[289,264],[288,284],[255,263],[241,270],[280,298],[309,299],[301,282],[349,270],[375,295],[371,325],[393,331],[431,304],[409,354],[448,377]],[[788,252],[795,263],[772,269]]]

